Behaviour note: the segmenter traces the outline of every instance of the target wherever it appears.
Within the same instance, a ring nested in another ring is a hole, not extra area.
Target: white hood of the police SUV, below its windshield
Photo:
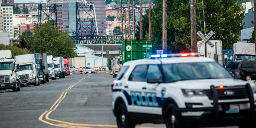
[[[224,78],[224,79],[201,79],[201,80],[182,80],[172,83],[175,86],[178,86],[178,88],[182,89],[210,89],[211,85],[214,85],[216,87],[223,85],[223,86],[238,86],[238,85],[246,85],[246,83],[249,83],[244,80],[240,79],[230,79],[230,78]],[[253,82],[250,82],[253,84]]]

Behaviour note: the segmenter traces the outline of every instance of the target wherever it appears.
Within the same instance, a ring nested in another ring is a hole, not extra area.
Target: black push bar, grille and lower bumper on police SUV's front
[[[225,90],[230,90],[231,88]],[[256,120],[255,99],[250,85],[247,84],[233,89],[234,92],[229,93],[237,93],[237,95],[224,96],[222,94],[225,90],[218,90],[218,87],[211,86],[211,90],[204,91],[207,92],[208,98],[213,101],[213,107],[193,108],[192,106],[200,106],[203,103],[186,102],[186,108],[178,108],[176,111],[181,113],[182,122],[186,122],[188,125],[200,124],[202,127],[209,126],[209,124],[213,126],[241,125],[248,121]],[[236,101],[230,101],[234,98]],[[248,100],[244,100],[244,98]],[[222,102],[218,102],[219,100],[222,100]]]

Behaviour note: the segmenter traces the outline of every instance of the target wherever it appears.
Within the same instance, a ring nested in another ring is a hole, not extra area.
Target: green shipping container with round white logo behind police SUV
[[[151,40],[125,40],[122,44],[122,64],[131,60],[147,59],[151,54]]]

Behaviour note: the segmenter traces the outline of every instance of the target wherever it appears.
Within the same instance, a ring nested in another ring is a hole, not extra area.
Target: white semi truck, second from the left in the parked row
[[[27,85],[40,85],[34,54],[14,56],[14,60],[16,67],[18,67],[16,74],[20,81],[20,86],[24,87]]]

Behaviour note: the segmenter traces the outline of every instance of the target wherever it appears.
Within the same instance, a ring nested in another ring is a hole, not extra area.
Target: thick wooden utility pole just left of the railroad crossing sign
[[[191,52],[196,50],[196,0],[190,0]]]

